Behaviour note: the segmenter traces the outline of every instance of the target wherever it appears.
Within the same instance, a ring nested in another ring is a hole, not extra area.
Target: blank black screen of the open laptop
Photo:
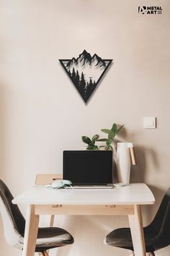
[[[63,151],[63,179],[73,185],[112,184],[111,150],[67,150]]]

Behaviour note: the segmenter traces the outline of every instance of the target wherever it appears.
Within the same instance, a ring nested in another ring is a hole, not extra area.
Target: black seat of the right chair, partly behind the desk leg
[[[146,228],[143,230],[146,241],[146,252],[154,252],[155,248],[153,245],[156,242],[156,235]],[[110,232],[106,237],[106,243],[114,247],[130,249],[133,251],[132,236],[129,228],[115,229]]]

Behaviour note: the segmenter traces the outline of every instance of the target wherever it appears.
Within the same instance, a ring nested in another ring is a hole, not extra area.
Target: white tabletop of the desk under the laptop
[[[151,205],[153,193],[144,183],[112,189],[46,189],[31,187],[12,200],[26,205]]]

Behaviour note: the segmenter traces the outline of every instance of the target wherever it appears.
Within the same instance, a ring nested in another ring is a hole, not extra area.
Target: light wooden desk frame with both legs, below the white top
[[[28,205],[23,256],[35,255],[40,215],[126,215],[129,218],[135,256],[146,256],[140,205]]]

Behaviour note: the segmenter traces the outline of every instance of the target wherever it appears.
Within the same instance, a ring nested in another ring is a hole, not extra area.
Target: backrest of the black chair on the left
[[[25,220],[17,205],[12,204],[12,193],[0,179],[0,213],[4,236],[9,245],[22,249]]]

